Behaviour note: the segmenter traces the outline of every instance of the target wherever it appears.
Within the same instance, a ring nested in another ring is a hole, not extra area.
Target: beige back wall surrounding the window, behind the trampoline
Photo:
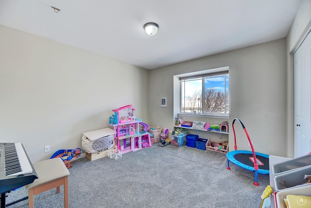
[[[232,120],[246,127],[255,151],[285,156],[286,39],[279,39],[150,71],[149,120],[173,129],[173,76],[229,66],[229,149],[233,150]],[[160,98],[167,97],[167,108]],[[202,118],[200,118],[202,120]],[[213,123],[213,119],[206,118]],[[250,150],[241,125],[235,124],[239,150]]]

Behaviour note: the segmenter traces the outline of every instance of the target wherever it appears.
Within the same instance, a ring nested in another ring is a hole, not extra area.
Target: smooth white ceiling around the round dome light
[[[0,24],[154,69],[285,38],[300,2],[0,0]],[[147,22],[159,25],[155,36]]]

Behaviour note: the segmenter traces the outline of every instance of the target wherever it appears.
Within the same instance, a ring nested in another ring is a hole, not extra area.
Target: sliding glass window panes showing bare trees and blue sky
[[[180,113],[229,113],[229,71],[179,78]]]

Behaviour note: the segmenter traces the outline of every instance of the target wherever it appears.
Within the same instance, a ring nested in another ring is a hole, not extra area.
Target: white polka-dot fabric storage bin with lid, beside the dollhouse
[[[83,133],[82,148],[86,151],[86,158],[96,160],[107,156],[108,151],[115,148],[115,134],[110,128]]]

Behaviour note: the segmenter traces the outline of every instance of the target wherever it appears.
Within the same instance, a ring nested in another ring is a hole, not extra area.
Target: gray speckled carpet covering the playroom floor
[[[230,164],[225,154],[168,145],[128,152],[118,159],[86,157],[71,163],[69,208],[257,208],[269,175]],[[52,167],[51,167],[52,168]],[[6,203],[27,196],[25,187]],[[28,200],[9,208],[27,208]],[[35,208],[64,207],[63,187],[35,195]]]

